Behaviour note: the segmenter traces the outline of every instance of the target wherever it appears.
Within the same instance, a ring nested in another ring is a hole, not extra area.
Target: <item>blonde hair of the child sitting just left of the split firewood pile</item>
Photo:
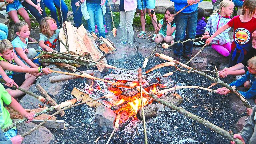
[[[41,21],[40,21],[40,32],[43,35],[46,35],[47,38],[50,38],[52,35],[51,35],[50,26],[48,24],[48,20],[53,20],[56,23],[55,19],[53,19],[51,17],[45,17],[45,18],[41,19]],[[55,33],[55,31],[54,31],[54,33]]]

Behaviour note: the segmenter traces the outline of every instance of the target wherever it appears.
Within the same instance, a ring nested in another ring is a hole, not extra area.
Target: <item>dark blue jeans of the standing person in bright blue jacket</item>
[[[176,13],[176,12],[175,12]],[[188,39],[195,39],[196,36],[196,26],[197,26],[197,10],[192,13],[179,13],[175,16],[176,23],[176,33],[174,42],[184,41]],[[185,37],[186,32],[186,37]],[[174,55],[176,57],[181,57],[182,53],[185,55],[190,54],[193,48],[193,41],[188,41],[183,45],[181,43],[176,43],[173,46]]]

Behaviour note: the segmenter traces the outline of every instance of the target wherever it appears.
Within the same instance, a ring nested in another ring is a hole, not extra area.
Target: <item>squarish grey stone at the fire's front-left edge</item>
[[[95,121],[100,127],[114,128],[116,114],[113,110],[101,105],[96,108]]]

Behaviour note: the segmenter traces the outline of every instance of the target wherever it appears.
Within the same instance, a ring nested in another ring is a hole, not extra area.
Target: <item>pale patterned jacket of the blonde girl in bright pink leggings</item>
[[[210,33],[210,35],[213,35],[220,27],[227,24],[230,20],[231,20],[230,17],[227,17],[227,16],[222,17],[218,13],[212,14],[209,17],[208,22],[206,24],[205,32],[208,31]],[[226,29],[224,32],[222,32],[221,34],[216,36],[212,40],[211,44],[223,45],[223,44],[230,42],[230,38],[228,35],[229,30],[230,30],[230,28]]]

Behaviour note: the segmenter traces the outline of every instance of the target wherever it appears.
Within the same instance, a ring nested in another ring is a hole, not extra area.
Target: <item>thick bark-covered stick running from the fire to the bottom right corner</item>
[[[156,95],[150,95],[154,100],[156,100],[157,102],[173,109],[173,110],[176,110],[178,111],[179,113],[183,114],[184,116],[188,117],[188,118],[191,118],[193,119],[194,121],[197,121],[199,122],[200,124],[210,128],[211,130],[213,130],[214,132],[224,136],[225,138],[229,139],[230,141],[235,141],[236,144],[243,144],[242,141],[240,141],[239,139],[234,139],[233,138],[233,134],[230,134],[228,131],[225,131],[224,129],[210,123],[209,121],[197,116],[197,115],[194,115],[186,110],[184,110],[183,108],[180,108],[180,107],[177,107],[169,102],[165,102],[164,100],[158,98]]]

